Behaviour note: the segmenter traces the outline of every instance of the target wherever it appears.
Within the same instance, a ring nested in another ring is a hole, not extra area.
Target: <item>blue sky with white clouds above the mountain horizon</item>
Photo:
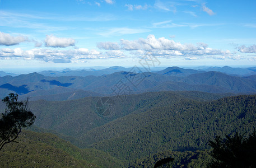
[[[0,2],[0,71],[256,65],[256,1]]]

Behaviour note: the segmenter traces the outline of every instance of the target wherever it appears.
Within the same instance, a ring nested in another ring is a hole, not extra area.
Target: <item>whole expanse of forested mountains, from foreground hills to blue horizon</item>
[[[36,115],[30,131],[20,134],[21,143],[1,151],[1,163],[153,167],[173,157],[174,167],[206,167],[208,141],[252,132],[256,124],[256,75],[217,69],[116,67],[99,76],[0,77],[0,98],[10,92],[30,97]]]

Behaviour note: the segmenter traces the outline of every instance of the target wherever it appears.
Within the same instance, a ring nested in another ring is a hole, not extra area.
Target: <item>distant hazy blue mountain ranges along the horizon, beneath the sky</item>
[[[0,77],[0,98],[7,96],[9,92],[15,92],[21,97],[31,97],[31,100],[73,100],[88,96],[129,95],[148,91],[203,91],[218,94],[256,92],[255,67],[212,67],[204,71],[169,67],[156,72],[142,72],[141,69],[110,67],[91,71],[66,69],[61,72],[8,75]],[[117,88],[121,84],[126,89],[119,90],[119,93]]]

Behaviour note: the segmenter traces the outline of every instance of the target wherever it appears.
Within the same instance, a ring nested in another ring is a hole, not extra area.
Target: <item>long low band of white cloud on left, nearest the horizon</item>
[[[54,63],[71,63],[83,62],[86,59],[109,59],[109,58],[123,58],[125,54],[119,50],[108,52],[99,52],[97,50],[89,50],[86,48],[70,49],[70,50],[57,50],[57,49],[31,49],[22,50],[20,48],[0,49],[0,59],[36,59],[44,62]]]

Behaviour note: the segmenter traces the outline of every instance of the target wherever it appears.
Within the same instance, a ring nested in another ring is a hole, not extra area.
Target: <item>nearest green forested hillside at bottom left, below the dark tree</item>
[[[81,150],[49,133],[22,132],[18,143],[0,151],[0,167],[122,167],[123,162],[104,152]]]

